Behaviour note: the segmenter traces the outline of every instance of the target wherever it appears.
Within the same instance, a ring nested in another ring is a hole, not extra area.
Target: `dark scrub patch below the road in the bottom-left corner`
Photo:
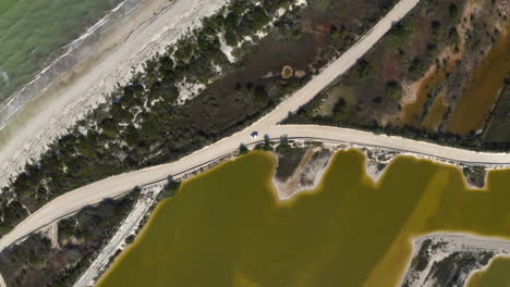
[[[88,267],[94,254],[113,235],[139,192],[107,199],[58,223],[58,246],[33,234],[0,253],[0,272],[8,286],[71,286]]]

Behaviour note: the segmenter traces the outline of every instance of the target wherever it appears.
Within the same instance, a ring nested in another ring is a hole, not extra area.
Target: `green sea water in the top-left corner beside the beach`
[[[0,101],[121,0],[0,1]]]

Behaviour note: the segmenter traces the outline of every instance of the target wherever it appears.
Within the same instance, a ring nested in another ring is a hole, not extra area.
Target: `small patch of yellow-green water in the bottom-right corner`
[[[467,287],[510,287],[510,258],[496,258],[487,270],[473,274]]]

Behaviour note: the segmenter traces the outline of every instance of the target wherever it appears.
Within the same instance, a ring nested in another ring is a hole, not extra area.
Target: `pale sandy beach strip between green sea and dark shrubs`
[[[147,0],[110,27],[94,52],[62,73],[45,95],[29,102],[0,130],[0,186],[36,161],[48,145],[90,110],[106,101],[117,84],[129,82],[132,68],[201,24],[228,0]]]

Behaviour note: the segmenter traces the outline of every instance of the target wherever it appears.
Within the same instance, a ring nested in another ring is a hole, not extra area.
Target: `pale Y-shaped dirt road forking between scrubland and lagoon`
[[[251,144],[254,141],[250,136],[253,130],[257,130],[260,135],[267,134],[270,137],[288,135],[289,137],[313,137],[343,140],[360,145],[388,147],[456,161],[494,164],[510,163],[510,154],[503,153],[477,153],[474,151],[440,147],[411,139],[374,135],[367,132],[348,128],[307,125],[278,125],[279,122],[288,116],[289,112],[296,111],[301,105],[312,100],[320,90],[330,85],[337,77],[348,71],[391,28],[392,23],[400,21],[418,3],[418,1],[420,0],[401,0],[367,33],[367,35],[360,39],[359,42],[351,47],[320,74],[315,76],[303,88],[292,95],[292,97],[284,100],[274,111],[254,123],[252,126],[175,162],[111,176],[66,192],[31,214],[13,230],[3,236],[0,239],[0,250],[34,230],[54,222],[61,216],[77,211],[85,205],[97,203],[105,198],[116,197],[131,190],[134,186],[142,186],[148,183],[161,180],[167,178],[168,175],[181,174],[184,171],[189,171],[206,162],[210,162],[223,154],[231,153],[239,148],[241,142]]]

